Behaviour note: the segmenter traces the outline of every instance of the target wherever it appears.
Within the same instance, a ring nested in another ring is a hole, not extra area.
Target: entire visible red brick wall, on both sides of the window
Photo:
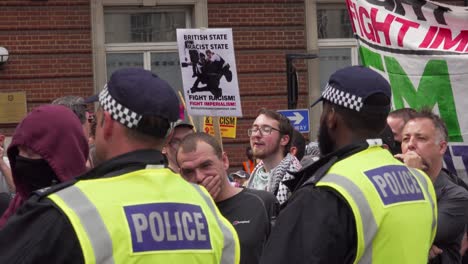
[[[224,139],[231,167],[245,160],[246,130],[257,110],[287,108],[285,54],[305,52],[304,16],[304,0],[208,0],[209,27],[234,32],[244,117],[237,139]],[[90,0],[0,1],[0,46],[10,52],[0,69],[0,91],[26,91],[29,109],[63,95],[91,94],[90,21]],[[305,67],[297,66],[298,108],[306,108]],[[13,129],[0,124],[0,132]]]

